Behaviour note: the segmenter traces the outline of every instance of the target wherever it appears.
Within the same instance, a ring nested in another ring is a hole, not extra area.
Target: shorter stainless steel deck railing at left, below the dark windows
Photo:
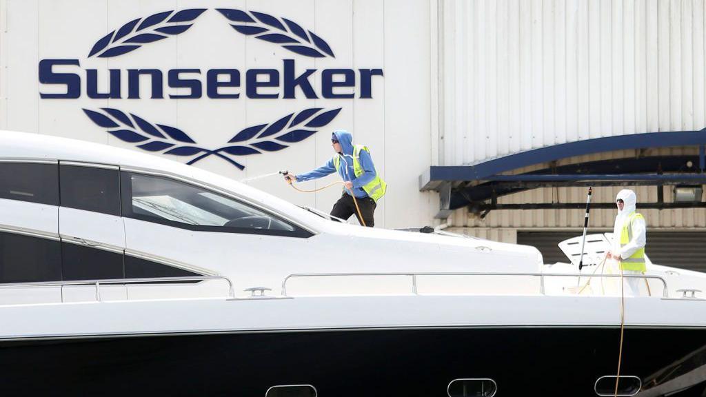
[[[225,275],[195,275],[186,277],[151,277],[151,278],[114,278],[105,280],[75,280],[75,281],[39,281],[30,283],[4,283],[0,284],[0,288],[26,288],[26,287],[61,287],[68,285],[95,285],[95,300],[101,302],[100,286],[111,284],[145,284],[145,283],[164,283],[174,281],[204,281],[204,280],[225,280],[228,283],[228,297],[235,297],[232,281]],[[61,294],[61,303],[64,303],[64,294]]]

